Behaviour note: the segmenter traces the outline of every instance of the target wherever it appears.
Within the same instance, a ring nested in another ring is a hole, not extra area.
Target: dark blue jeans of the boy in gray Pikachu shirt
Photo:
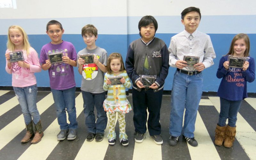
[[[84,99],[85,125],[88,132],[104,133],[108,123],[108,117],[103,108],[103,101],[106,98],[105,92],[93,94],[82,91]],[[97,121],[95,123],[94,106],[97,109]]]

